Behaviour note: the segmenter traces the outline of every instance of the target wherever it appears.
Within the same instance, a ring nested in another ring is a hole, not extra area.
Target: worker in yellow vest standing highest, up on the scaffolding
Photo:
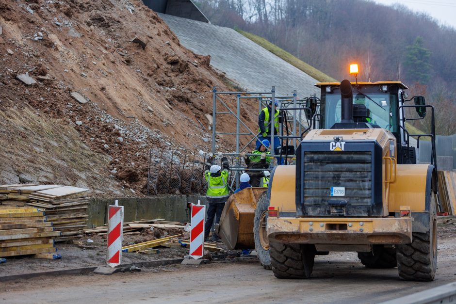
[[[270,139],[271,138],[271,126],[274,125],[274,143],[273,143],[273,148],[272,151],[276,151],[276,148],[280,146],[280,140],[278,138],[278,127],[279,127],[279,111],[276,109],[279,105],[279,100],[276,98],[274,101],[271,100],[269,105],[266,108],[263,108],[260,112],[260,115],[258,116],[258,127],[259,130],[258,132],[260,133],[258,135],[257,143],[256,143],[256,148],[258,149],[261,145],[261,141],[264,139]],[[274,114],[272,114],[274,112]],[[274,118],[273,118],[274,117]],[[271,122],[271,120],[273,122]],[[274,154],[274,152],[273,152]],[[283,165],[284,159],[280,159],[277,157],[277,163]]]

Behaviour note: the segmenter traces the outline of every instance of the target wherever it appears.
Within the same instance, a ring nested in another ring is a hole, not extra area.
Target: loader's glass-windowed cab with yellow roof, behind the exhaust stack
[[[342,120],[342,97],[339,82],[317,83],[321,88],[318,128],[337,128]],[[396,138],[398,163],[417,163],[416,147],[407,145],[403,111],[407,90],[400,81],[352,82],[353,119],[364,128],[383,128]],[[402,128],[401,128],[402,127]]]

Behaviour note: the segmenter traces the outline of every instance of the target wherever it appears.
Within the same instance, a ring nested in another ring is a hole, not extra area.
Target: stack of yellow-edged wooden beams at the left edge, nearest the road
[[[0,257],[53,253],[59,235],[37,208],[0,206]]]

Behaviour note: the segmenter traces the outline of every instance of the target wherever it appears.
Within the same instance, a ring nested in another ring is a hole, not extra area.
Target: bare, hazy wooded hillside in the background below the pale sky
[[[257,34],[336,79],[402,80],[456,133],[456,31],[405,6],[365,0],[197,0],[213,24]],[[444,113],[446,112],[446,113]],[[423,124],[418,127],[426,128]]]

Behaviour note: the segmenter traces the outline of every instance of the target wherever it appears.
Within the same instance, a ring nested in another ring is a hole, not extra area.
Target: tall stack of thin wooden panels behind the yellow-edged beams
[[[56,241],[81,238],[81,231],[87,224],[86,197],[88,189],[41,184],[19,184],[0,186],[0,193],[6,198],[1,204],[7,206],[33,206],[45,211],[55,230],[62,234]]]

